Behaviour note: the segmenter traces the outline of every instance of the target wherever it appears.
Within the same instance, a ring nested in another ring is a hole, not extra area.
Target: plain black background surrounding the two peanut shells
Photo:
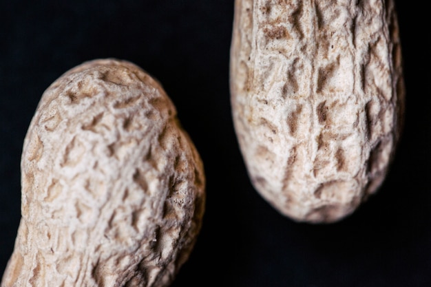
[[[406,125],[379,190],[336,224],[299,224],[251,186],[229,103],[233,0],[0,1],[0,274],[20,219],[19,161],[43,91],[114,57],[158,78],[207,173],[202,231],[172,287],[431,286],[430,24],[396,1]]]

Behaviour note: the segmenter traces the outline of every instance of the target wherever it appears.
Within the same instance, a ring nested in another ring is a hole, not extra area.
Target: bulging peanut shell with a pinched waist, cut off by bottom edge
[[[1,287],[168,286],[200,231],[200,156],[161,85],[127,61],[89,61],[52,83],[21,173]]]

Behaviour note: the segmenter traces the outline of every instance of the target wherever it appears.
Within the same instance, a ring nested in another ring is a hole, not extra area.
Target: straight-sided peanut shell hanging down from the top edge
[[[235,1],[233,122],[253,186],[282,214],[336,222],[375,193],[404,94],[393,1]]]

